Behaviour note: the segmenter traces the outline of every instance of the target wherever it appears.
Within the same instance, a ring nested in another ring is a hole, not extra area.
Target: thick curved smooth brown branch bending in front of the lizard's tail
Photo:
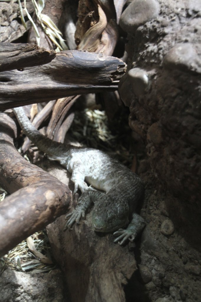
[[[57,178],[22,158],[13,144],[16,125],[3,113],[0,129],[0,185],[9,193],[14,192],[0,204],[2,256],[64,214],[72,195]]]

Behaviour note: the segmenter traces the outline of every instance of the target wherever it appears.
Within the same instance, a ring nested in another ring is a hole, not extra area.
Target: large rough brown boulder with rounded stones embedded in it
[[[131,13],[136,3],[126,10]],[[160,0],[158,5],[160,14],[129,35],[119,91],[152,169],[193,213],[201,187],[201,3]]]

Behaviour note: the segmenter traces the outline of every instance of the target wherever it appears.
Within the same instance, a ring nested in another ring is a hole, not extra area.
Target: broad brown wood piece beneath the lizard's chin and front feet
[[[91,214],[72,231],[61,232],[64,224],[62,216],[47,232],[71,301],[125,302],[123,287],[137,269],[128,246],[113,243],[112,234],[94,232]]]

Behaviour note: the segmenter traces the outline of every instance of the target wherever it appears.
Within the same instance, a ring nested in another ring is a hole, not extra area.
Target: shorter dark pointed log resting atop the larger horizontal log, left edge
[[[54,50],[48,51],[34,44],[0,43],[0,72],[47,64],[55,56]],[[1,78],[1,82],[4,81]]]

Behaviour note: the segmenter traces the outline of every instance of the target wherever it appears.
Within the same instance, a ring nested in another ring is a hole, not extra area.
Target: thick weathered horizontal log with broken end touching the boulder
[[[124,73],[120,59],[72,50],[51,63],[0,73],[0,110],[70,95],[116,90]]]

